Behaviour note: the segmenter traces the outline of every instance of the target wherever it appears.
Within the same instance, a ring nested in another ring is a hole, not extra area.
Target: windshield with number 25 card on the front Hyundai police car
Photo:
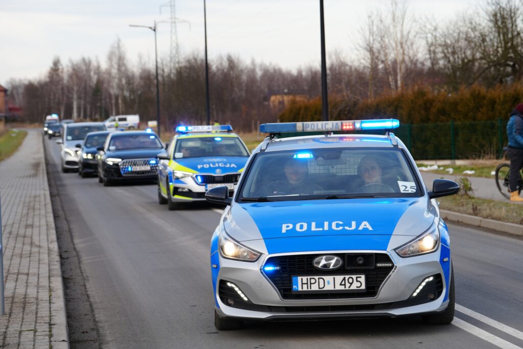
[[[244,179],[241,200],[417,197],[421,190],[397,148],[264,152]]]

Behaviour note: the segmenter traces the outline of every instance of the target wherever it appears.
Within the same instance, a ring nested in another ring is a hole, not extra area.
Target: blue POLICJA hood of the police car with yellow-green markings
[[[198,173],[224,174],[240,171],[248,159],[248,156],[202,156],[174,161]]]

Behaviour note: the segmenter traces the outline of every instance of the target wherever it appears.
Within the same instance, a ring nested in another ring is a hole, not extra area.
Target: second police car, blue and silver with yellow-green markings
[[[158,202],[169,210],[204,201],[205,192],[226,186],[232,194],[249,151],[230,125],[178,126],[166,152],[158,154]]]

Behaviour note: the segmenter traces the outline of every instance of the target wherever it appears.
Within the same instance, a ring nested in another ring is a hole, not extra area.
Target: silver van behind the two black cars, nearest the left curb
[[[87,133],[105,130],[105,125],[102,122],[74,122],[63,125],[62,139],[56,141],[61,146],[62,172],[78,169],[78,153],[84,144]]]

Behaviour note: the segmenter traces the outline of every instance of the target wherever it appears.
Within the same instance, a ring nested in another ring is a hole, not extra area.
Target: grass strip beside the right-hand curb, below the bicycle
[[[465,213],[502,222],[523,224],[523,205],[479,199],[467,195],[452,195],[437,199],[444,210]]]

